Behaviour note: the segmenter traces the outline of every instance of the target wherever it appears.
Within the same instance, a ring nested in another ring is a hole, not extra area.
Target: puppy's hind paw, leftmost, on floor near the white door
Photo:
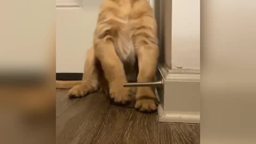
[[[76,85],[68,92],[69,98],[81,98],[89,94],[92,87],[90,85]]]

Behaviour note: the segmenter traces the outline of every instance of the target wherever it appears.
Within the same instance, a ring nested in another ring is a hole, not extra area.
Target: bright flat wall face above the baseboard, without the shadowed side
[[[200,69],[200,0],[172,0],[172,69]]]

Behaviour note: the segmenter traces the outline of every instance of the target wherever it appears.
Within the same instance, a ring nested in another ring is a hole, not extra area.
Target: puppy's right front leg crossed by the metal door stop
[[[139,74],[137,82],[154,82],[157,59],[158,46],[148,41],[144,35],[136,37],[136,52],[138,57]],[[157,99],[154,87],[137,87],[135,108],[140,111],[154,111],[157,109]]]

